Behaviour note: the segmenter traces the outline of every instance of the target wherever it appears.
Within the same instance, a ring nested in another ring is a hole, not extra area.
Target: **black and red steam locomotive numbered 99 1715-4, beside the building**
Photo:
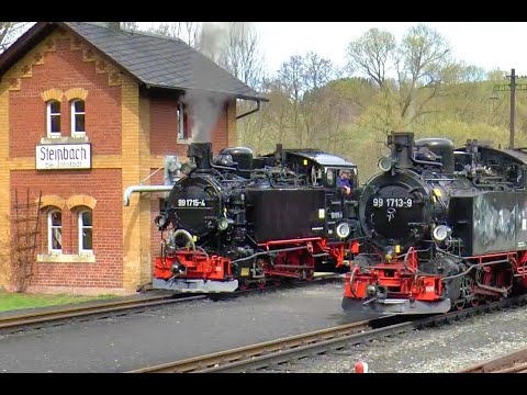
[[[357,167],[319,150],[255,157],[248,148],[189,146],[190,161],[155,219],[161,251],[154,289],[233,292],[270,280],[310,280],[343,267],[352,248],[355,205],[337,188]]]

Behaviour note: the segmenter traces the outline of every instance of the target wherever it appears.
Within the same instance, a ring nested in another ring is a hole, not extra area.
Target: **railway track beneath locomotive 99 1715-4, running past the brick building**
[[[317,278],[311,282],[300,283],[296,286],[305,286],[310,284],[321,284],[325,282],[336,281],[339,276],[327,275]],[[291,287],[293,285],[287,285]],[[141,313],[148,308],[159,307],[168,304],[184,303],[197,300],[212,298],[222,301],[225,298],[239,297],[254,293],[271,292],[281,289],[280,285],[271,285],[262,290],[251,289],[238,291],[232,294],[172,294],[149,296],[137,300],[101,302],[97,304],[76,305],[71,307],[51,308],[32,313],[21,313],[13,315],[0,316],[0,334],[13,334],[29,329],[40,329],[49,326],[59,326],[72,320],[90,320],[96,318],[106,318],[123,316],[132,313]]]

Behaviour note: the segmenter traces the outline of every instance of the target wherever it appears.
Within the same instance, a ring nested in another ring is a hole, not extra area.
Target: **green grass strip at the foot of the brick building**
[[[76,296],[76,295],[45,295],[45,294],[24,294],[9,293],[0,291],[0,312],[8,312],[23,308],[45,307],[54,305],[65,305],[71,303],[82,303],[88,301],[101,301],[116,297],[115,295],[98,296]]]

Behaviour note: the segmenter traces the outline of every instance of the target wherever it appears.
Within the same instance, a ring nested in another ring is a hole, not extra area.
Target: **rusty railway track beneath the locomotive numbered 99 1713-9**
[[[419,319],[404,320],[405,318],[401,316],[386,316],[148,366],[128,373],[250,372],[305,357],[316,357],[352,346],[368,345],[373,340],[382,341],[412,330],[445,325],[478,314],[491,313],[525,303],[527,303],[527,295]]]

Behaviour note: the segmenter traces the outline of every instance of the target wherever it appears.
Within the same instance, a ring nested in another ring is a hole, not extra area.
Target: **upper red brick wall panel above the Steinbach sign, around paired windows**
[[[43,65],[33,66],[33,77],[22,78],[20,91],[10,92],[10,157],[34,156],[35,145],[47,136],[41,93],[52,88],[86,89],[86,135],[92,153],[120,154],[121,87],[110,87],[108,74],[97,74],[94,61],[82,60],[82,50],[70,50],[69,38],[58,40],[56,48],[44,53]],[[60,112],[61,135],[70,136],[70,108],[64,95]]]

